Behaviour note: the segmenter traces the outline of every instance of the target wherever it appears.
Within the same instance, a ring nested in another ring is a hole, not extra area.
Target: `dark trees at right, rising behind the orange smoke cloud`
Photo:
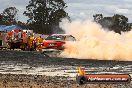
[[[131,25],[128,24],[128,18],[119,14],[115,14],[112,17],[103,17],[102,15],[96,14],[94,15],[94,21],[99,23],[103,28],[108,28],[119,34],[130,31],[131,28]]]

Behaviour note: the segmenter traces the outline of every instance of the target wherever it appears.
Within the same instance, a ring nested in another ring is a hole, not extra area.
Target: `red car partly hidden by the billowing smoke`
[[[43,41],[43,49],[63,50],[66,41],[75,41],[72,35],[68,34],[52,34]]]

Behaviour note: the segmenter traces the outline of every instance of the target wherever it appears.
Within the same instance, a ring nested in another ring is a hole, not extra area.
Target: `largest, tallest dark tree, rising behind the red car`
[[[64,11],[66,3],[63,0],[31,0],[26,6],[24,15],[29,17],[29,28],[38,33],[51,34],[54,28],[59,28],[62,18],[68,17]]]

